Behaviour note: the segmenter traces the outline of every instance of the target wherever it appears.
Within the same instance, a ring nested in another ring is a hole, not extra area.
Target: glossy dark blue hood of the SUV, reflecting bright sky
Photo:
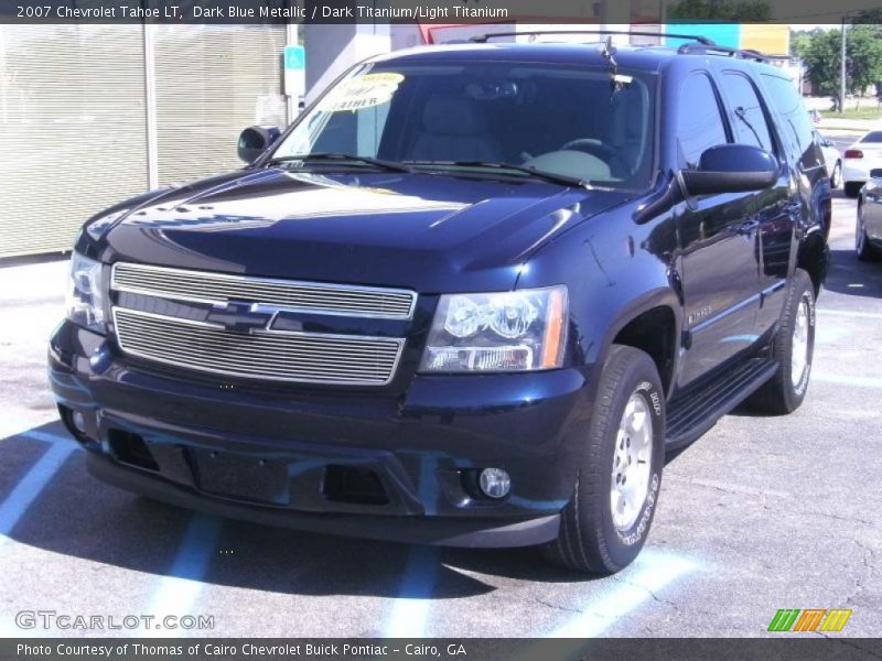
[[[377,284],[510,289],[545,242],[627,198],[537,181],[240,171],[108,209],[104,261]],[[93,237],[97,232],[89,231]]]

